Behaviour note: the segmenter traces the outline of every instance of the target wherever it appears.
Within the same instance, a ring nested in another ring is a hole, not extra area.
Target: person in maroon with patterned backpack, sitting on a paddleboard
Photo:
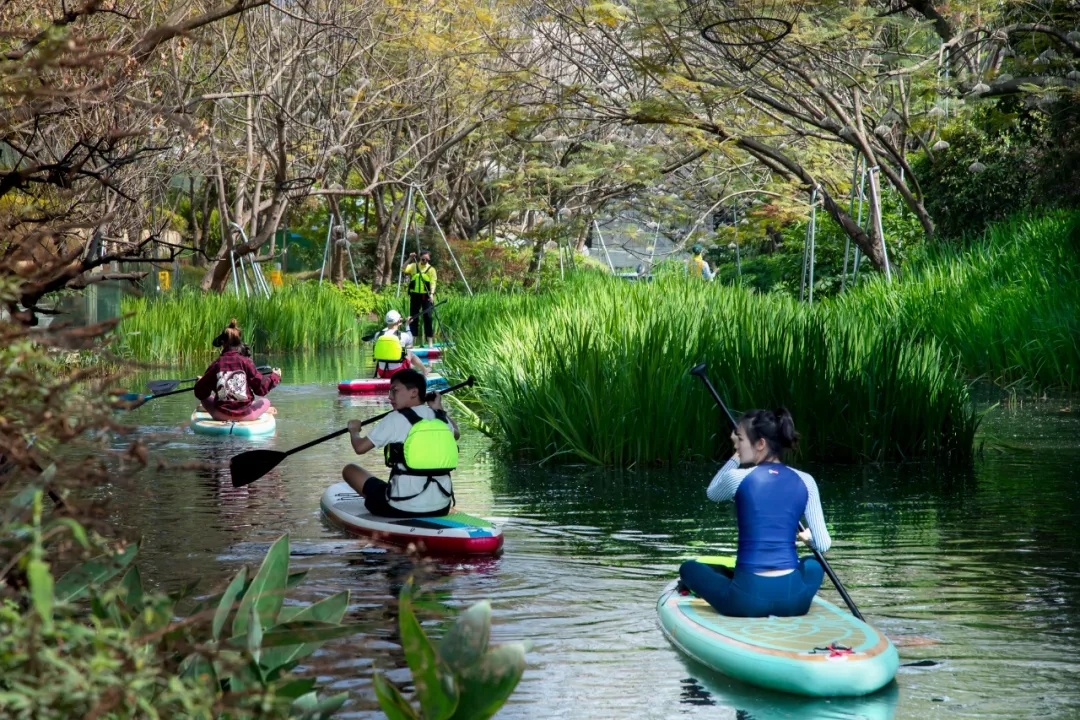
[[[194,386],[194,394],[215,420],[255,420],[270,408],[266,395],[281,382],[281,370],[274,368],[262,376],[255,363],[243,353],[244,341],[240,337],[237,321],[221,330],[214,339],[214,347],[221,354],[210,364]]]

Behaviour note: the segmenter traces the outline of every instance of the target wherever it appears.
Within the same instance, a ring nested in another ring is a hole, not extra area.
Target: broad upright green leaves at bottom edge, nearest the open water
[[[413,611],[411,592],[402,589],[400,626],[405,661],[416,685],[417,709],[386,677],[375,674],[375,693],[391,720],[486,720],[510,698],[525,673],[525,646],[488,649],[491,606],[463,612],[434,646]]]

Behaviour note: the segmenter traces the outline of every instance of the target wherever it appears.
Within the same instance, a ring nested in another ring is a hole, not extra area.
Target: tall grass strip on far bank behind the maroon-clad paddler
[[[257,353],[360,344],[361,326],[348,299],[328,285],[298,283],[269,299],[238,298],[199,290],[156,298],[125,297],[119,332],[122,345],[138,359],[173,362],[208,357],[211,342],[235,317]]]

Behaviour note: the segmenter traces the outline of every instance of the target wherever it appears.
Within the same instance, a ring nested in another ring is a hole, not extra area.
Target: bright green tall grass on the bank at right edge
[[[874,277],[836,312],[934,338],[969,376],[1080,388],[1080,215],[1017,217],[967,248],[923,250],[902,283]]]

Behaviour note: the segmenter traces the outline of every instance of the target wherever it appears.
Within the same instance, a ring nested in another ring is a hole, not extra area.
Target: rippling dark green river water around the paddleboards
[[[133,492],[100,490],[112,495],[116,524],[145,538],[144,576],[163,587],[201,578],[210,589],[289,533],[293,569],[310,571],[293,597],[349,589],[347,621],[369,628],[313,660],[328,690],[350,692],[343,717],[381,717],[373,668],[408,680],[395,598],[410,576],[448,608],[490,599],[494,641],[534,643],[500,718],[1080,717],[1080,412],[1067,400],[993,409],[984,450],[966,471],[805,467],[822,490],[833,567],[904,664],[878,695],[820,701],[726,680],[684,658],[658,627],[656,600],[679,561],[734,547],[731,507],[705,499],[711,467],[507,467],[465,430],[459,507],[505,533],[501,557],[465,561],[414,561],[321,518],[320,495],[355,460],[343,437],[233,489],[220,465],[235,452],[288,449],[388,407],[338,396],[335,384],[354,375],[354,362],[286,362],[289,384],[271,394],[280,411],[272,438],[193,435],[180,429],[189,396],[149,403],[127,416],[139,436],[168,462],[203,466],[144,471]],[[423,616],[433,634],[445,627]]]

